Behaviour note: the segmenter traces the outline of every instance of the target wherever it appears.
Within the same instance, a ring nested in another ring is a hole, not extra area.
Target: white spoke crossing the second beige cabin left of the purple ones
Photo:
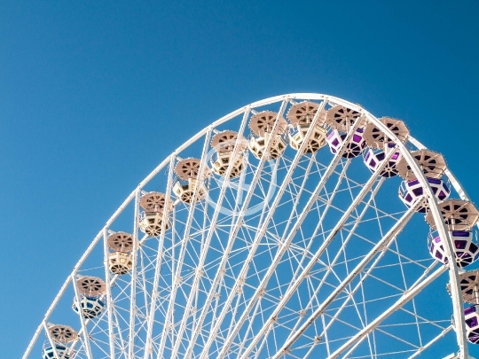
[[[275,121],[274,125],[273,125],[273,128],[271,129],[271,133],[276,133],[277,129],[279,128],[279,119],[283,116],[283,113],[285,112],[286,110],[286,107],[287,107],[287,102],[289,101],[289,98],[285,97],[283,98],[282,100],[282,103],[279,107],[279,113],[277,115],[277,119],[278,121]],[[243,121],[247,121],[247,118],[243,119]],[[270,148],[272,142],[273,142],[273,137],[270,137],[268,139],[268,141],[266,142],[265,144],[265,148]],[[247,196],[242,204],[242,207],[240,209],[240,213],[238,214],[238,217],[236,219],[236,222],[234,224],[234,226],[232,227],[232,230],[230,231],[230,234],[229,234],[229,237],[228,237],[228,245],[225,249],[225,253],[229,253],[231,251],[231,248],[232,248],[232,244],[234,242],[234,239],[236,238],[237,234],[238,234],[238,231],[240,230],[240,226],[241,226],[241,223],[242,223],[242,220],[246,214],[246,211],[247,211],[247,207],[249,205],[249,202],[250,200],[253,198],[253,193],[255,191],[255,187],[256,187],[256,184],[258,183],[258,181],[260,180],[260,174],[261,174],[261,170],[263,169],[263,166],[264,166],[264,163],[266,162],[267,160],[267,155],[268,155],[268,152],[265,151],[263,153],[263,156],[257,166],[257,169],[255,171],[255,176],[253,177],[253,180],[252,182],[250,183],[249,185],[249,189],[247,191]],[[278,161],[276,163],[276,165],[278,164]],[[277,168],[277,166],[275,166],[275,168]],[[211,232],[212,233],[212,232]],[[206,253],[205,253],[206,255]],[[215,279],[214,279],[214,282],[213,282],[213,285],[212,287],[215,288],[214,290],[211,290],[210,293],[208,293],[208,298],[207,298],[207,301],[206,301],[206,304],[205,304],[205,307],[209,307],[209,305],[211,304],[213,298],[214,298],[214,292],[216,292],[216,286],[217,286],[217,282],[218,282],[218,278],[219,278],[219,271],[223,268],[224,266],[224,261],[227,259],[227,255],[224,255],[222,257],[222,261],[221,261],[221,264],[218,266],[218,272],[216,273],[216,276],[215,276]],[[192,289],[193,290],[193,289]],[[185,315],[187,314],[186,310],[185,310]],[[192,348],[193,348],[193,344],[194,342],[196,341],[196,338],[198,338],[198,335],[200,333],[200,327],[202,325],[202,323],[204,322],[204,319],[206,317],[206,312],[202,312],[200,318],[199,318],[199,322],[198,324],[195,326],[195,330],[192,334],[192,339],[190,340],[190,345],[187,347],[186,349],[186,354],[185,354],[185,357],[189,357],[189,355],[191,355],[192,353]],[[179,335],[179,339],[177,341],[177,345],[175,346],[174,348],[174,351],[172,353],[172,357],[174,357],[174,355],[177,354],[177,350],[178,350],[178,347],[179,347],[179,341],[181,341],[181,338],[183,336],[183,332],[185,331],[185,316],[183,318],[183,321],[182,321],[182,328],[180,330],[180,335]]]

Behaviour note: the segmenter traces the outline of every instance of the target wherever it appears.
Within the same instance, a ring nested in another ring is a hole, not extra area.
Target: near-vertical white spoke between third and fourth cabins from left
[[[129,358],[135,358],[134,339],[135,339],[135,314],[137,311],[137,257],[138,257],[138,222],[139,222],[139,199],[141,195],[141,188],[138,187],[135,193],[135,217],[133,220],[133,266],[131,268],[131,294],[130,294],[130,332],[129,332]]]

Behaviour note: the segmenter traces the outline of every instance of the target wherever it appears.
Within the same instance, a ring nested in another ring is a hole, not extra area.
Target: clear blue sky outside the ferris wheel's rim
[[[478,13],[475,0],[0,2],[0,356],[20,357],[137,183],[261,98],[326,93],[403,119],[479,201]]]

